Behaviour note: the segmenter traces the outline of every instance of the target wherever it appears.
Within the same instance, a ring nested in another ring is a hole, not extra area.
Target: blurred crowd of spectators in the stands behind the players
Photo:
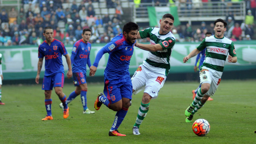
[[[66,8],[63,8],[63,3],[69,3],[68,0],[22,0],[23,6],[19,12],[15,7],[10,10],[1,9],[0,46],[39,45],[44,40],[43,28],[46,26],[51,26],[54,29],[54,38],[63,41],[65,45],[72,45],[81,39],[82,30],[85,28],[92,29],[91,43],[107,43],[122,32],[121,27],[124,22],[121,16],[124,12],[119,0],[105,1],[107,8],[115,8],[115,14],[111,17],[108,13],[95,14],[92,3],[99,0],[82,0],[80,3],[73,1],[71,6]],[[179,2],[185,1],[179,0]],[[198,1],[207,2],[208,0],[196,0]],[[159,4],[168,0],[141,0],[141,2]],[[175,1],[171,0],[171,2]],[[186,6],[189,7],[189,5]],[[256,0],[247,0],[246,18],[243,23],[235,21],[234,15],[229,13],[226,16],[228,25],[225,36],[233,41],[255,39],[253,37],[255,10]],[[201,27],[197,29],[192,29],[190,24],[186,24],[186,26],[174,27],[172,33],[176,41],[198,42],[205,37],[207,31],[214,34],[213,27],[213,23],[208,26],[202,21]],[[141,26],[140,29],[143,27]]]

